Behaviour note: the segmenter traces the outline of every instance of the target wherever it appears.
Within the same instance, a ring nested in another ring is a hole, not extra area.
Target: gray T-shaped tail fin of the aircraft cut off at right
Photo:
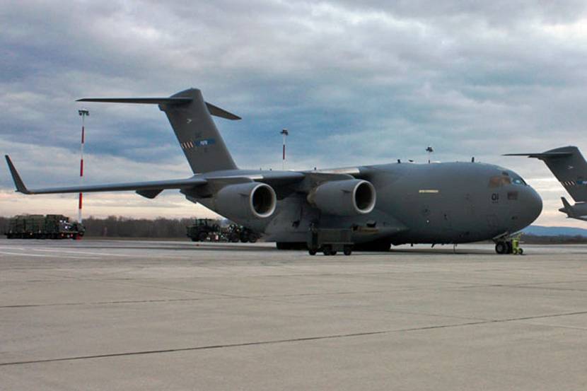
[[[576,202],[587,201],[587,161],[576,146],[563,146],[542,153],[508,153],[545,162]]]

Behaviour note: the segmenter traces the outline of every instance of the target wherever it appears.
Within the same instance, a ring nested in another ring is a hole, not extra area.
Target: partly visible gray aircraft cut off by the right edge
[[[587,162],[576,146],[562,146],[541,153],[508,153],[506,156],[528,156],[545,162],[576,204],[571,206],[561,197],[559,211],[568,218],[587,221]]]

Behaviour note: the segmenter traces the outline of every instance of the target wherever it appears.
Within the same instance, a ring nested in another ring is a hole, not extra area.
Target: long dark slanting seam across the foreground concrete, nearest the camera
[[[301,337],[292,339],[273,339],[269,341],[257,341],[257,342],[241,342],[238,344],[219,344],[219,345],[207,345],[207,346],[192,346],[187,348],[176,348],[176,349],[160,349],[160,350],[145,350],[145,351],[127,351],[122,353],[110,353],[110,354],[94,354],[91,356],[72,356],[62,358],[45,358],[42,360],[30,360],[30,361],[13,361],[7,363],[0,363],[0,366],[16,366],[25,364],[37,364],[37,363],[54,363],[58,361],[78,361],[88,360],[95,358],[111,358],[111,357],[123,357],[123,356],[143,356],[146,354],[161,354],[161,353],[177,353],[180,351],[198,351],[198,350],[212,350],[212,349],[223,349],[223,348],[235,348],[243,346],[257,346],[257,345],[270,345],[270,344],[286,344],[291,342],[308,342],[308,341],[320,341],[322,339],[338,339],[338,338],[349,338],[349,337],[366,337],[371,335],[380,334],[391,334],[396,332],[417,332],[431,329],[447,329],[451,327],[465,327],[475,325],[487,325],[491,323],[503,323],[503,322],[514,322],[519,320],[533,320],[545,317],[561,317],[569,315],[585,315],[587,311],[579,311],[574,313],[561,313],[561,314],[549,314],[549,315],[537,315],[528,317],[515,317],[508,319],[496,319],[496,320],[481,320],[479,322],[466,322],[466,323],[455,323],[451,325],[435,325],[435,326],[424,326],[424,327],[413,327],[407,329],[388,329],[378,330],[373,332],[357,332],[349,334],[333,334],[333,335],[322,335],[316,337]],[[555,327],[555,326],[553,326]]]

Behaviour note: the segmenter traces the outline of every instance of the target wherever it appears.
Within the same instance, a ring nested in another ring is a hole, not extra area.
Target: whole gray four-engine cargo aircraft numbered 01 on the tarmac
[[[397,163],[308,171],[240,170],[211,115],[240,119],[204,101],[198,89],[169,98],[86,98],[82,102],[156,104],[167,115],[192,177],[155,182],[28,189],[6,156],[18,192],[51,194],[134,190],[155,198],[179,189],[222,216],[265,234],[280,249],[305,247],[313,229],[351,230],[356,249],[405,243],[494,240],[532,223],[542,199],[520,175],[483,163]]]

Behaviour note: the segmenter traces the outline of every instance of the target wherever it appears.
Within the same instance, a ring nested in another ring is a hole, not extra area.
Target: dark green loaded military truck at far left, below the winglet
[[[80,239],[86,232],[81,223],[62,214],[23,214],[8,221],[8,239]]]

